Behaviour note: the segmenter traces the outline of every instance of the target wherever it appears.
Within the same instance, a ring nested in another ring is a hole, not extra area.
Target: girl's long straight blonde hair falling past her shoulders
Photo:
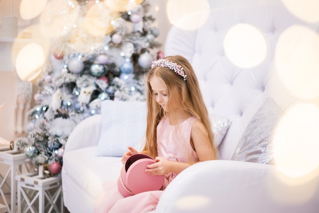
[[[212,154],[217,157],[216,147],[214,145],[214,135],[211,130],[208,111],[204,104],[202,94],[200,92],[199,84],[195,72],[190,62],[182,56],[168,56],[164,58],[180,65],[184,73],[187,75],[187,80],[184,81],[183,77],[170,70],[167,67],[155,66],[147,74],[147,126],[146,126],[146,143],[144,150],[148,150],[152,157],[157,156],[157,143],[156,143],[156,128],[157,124],[165,116],[165,112],[161,105],[159,105],[155,98],[150,85],[150,79],[153,76],[161,78],[166,87],[168,95],[167,107],[169,108],[170,100],[174,97],[171,96],[172,90],[177,89],[181,98],[181,108],[190,116],[194,116],[204,125],[207,132],[210,148]]]

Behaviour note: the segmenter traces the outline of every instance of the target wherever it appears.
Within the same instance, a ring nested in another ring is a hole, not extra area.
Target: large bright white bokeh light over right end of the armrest
[[[275,164],[281,173],[311,179],[319,167],[319,108],[311,102],[299,102],[286,109],[274,132]]]

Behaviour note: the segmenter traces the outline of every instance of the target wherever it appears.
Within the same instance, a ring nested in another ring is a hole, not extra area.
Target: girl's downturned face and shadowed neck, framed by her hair
[[[168,103],[168,94],[167,94],[167,87],[166,84],[164,83],[164,81],[157,77],[157,76],[153,76],[150,81],[149,81],[151,88],[153,90],[153,95],[154,98],[156,100],[156,102],[162,106],[163,110],[168,112],[169,109],[167,107],[167,103]],[[180,97],[179,95],[177,95],[177,90],[174,89],[172,91],[172,95],[171,95],[171,101],[170,101],[170,109],[171,110],[176,110],[180,107]]]

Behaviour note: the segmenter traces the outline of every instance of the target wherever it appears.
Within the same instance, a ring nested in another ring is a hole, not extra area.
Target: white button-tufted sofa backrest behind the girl
[[[238,23],[257,28],[267,45],[267,56],[252,68],[237,67],[225,55],[225,35]],[[173,26],[169,31],[165,55],[187,58],[197,74],[207,107],[232,120],[219,147],[221,159],[231,159],[246,126],[265,99],[272,97],[283,110],[296,100],[279,80],[274,64],[276,42],[293,24],[305,25],[281,3],[271,3],[211,9],[201,28],[186,31]],[[314,25],[310,27],[316,30]]]

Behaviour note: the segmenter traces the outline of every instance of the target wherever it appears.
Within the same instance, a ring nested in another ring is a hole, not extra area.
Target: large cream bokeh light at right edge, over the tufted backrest
[[[319,96],[319,36],[293,25],[278,38],[275,65],[286,88],[300,98]]]

